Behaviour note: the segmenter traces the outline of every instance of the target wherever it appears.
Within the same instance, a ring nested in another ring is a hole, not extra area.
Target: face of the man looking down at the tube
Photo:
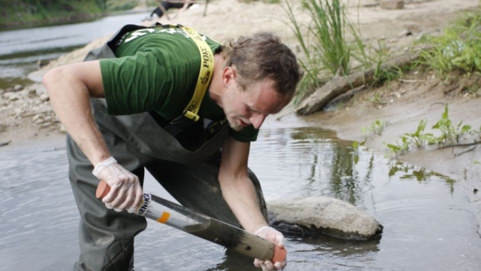
[[[229,126],[239,131],[252,124],[259,129],[269,114],[281,111],[291,97],[278,93],[273,85],[271,79],[264,79],[243,90],[235,79],[230,81],[222,96],[222,108]]]

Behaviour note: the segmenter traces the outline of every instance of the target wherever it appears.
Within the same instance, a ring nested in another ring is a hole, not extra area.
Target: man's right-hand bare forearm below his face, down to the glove
[[[248,173],[250,143],[229,137],[222,147],[219,183],[227,205],[240,224],[250,232],[266,226],[267,222],[259,209],[256,190]]]

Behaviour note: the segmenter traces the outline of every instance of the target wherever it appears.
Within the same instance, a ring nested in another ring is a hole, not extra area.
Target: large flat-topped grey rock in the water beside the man
[[[380,236],[383,228],[354,205],[328,197],[270,201],[267,209],[271,226],[287,235],[370,239]]]

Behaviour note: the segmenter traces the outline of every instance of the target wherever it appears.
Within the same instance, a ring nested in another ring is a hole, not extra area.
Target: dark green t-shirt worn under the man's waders
[[[213,53],[220,44],[206,36]],[[127,33],[113,48],[117,58],[101,59],[107,112],[127,115],[154,112],[161,125],[182,114],[195,90],[200,53],[190,37],[179,28],[154,27]],[[211,120],[225,118],[210,99],[208,89],[199,116]],[[229,130],[237,141],[256,141],[259,130],[252,125],[241,131]]]

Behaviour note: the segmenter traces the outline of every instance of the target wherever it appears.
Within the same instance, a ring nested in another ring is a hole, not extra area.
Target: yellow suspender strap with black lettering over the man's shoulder
[[[192,119],[193,121],[197,121],[199,119],[199,108],[200,103],[202,102],[202,98],[204,97],[205,90],[209,85],[210,78],[212,77],[212,73],[214,70],[214,56],[212,54],[212,50],[210,50],[209,45],[202,40],[200,35],[195,32],[195,30],[178,25],[183,31],[185,31],[189,37],[195,42],[197,48],[200,52],[200,72],[199,78],[197,79],[197,84],[195,85],[194,95],[192,99],[184,108],[184,116]]]

